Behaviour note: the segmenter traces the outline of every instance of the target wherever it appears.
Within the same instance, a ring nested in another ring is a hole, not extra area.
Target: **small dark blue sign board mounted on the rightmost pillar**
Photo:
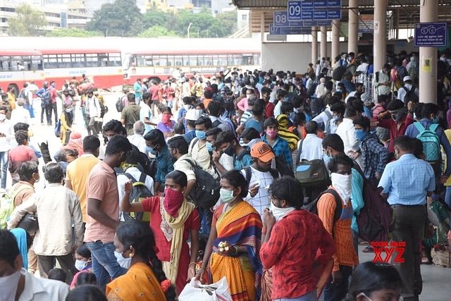
[[[445,47],[447,23],[415,23],[414,47]]]

